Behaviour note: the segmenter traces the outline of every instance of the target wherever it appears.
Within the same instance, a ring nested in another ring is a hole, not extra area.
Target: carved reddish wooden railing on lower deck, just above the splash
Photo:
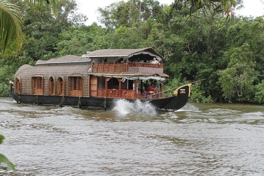
[[[121,90],[121,97],[116,89],[107,89],[106,93],[106,97],[111,98],[134,98],[134,90]],[[105,89],[97,89],[97,97],[105,97]]]

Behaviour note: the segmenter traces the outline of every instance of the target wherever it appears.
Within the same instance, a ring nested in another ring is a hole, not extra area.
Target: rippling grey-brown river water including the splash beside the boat
[[[264,175],[264,106],[188,103],[157,113],[17,104],[0,97],[0,175]],[[4,164],[2,164],[4,166]]]

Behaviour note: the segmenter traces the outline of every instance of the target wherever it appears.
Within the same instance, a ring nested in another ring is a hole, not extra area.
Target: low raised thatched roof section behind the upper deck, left
[[[82,56],[76,55],[66,55],[59,58],[52,58],[49,60],[38,60],[35,65],[40,64],[63,64],[63,63],[80,63],[80,62],[90,62],[91,59],[83,58]]]

